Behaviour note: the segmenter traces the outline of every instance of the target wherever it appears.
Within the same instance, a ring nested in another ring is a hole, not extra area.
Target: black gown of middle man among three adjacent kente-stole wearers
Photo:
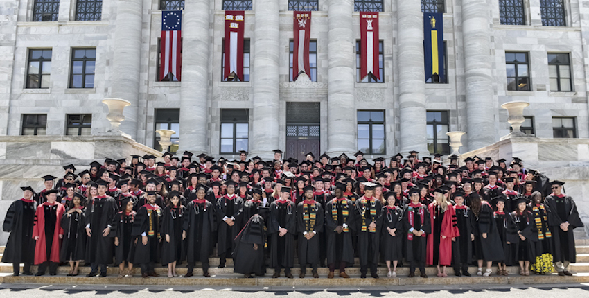
[[[344,202],[345,206],[344,206]],[[344,216],[344,210],[348,216]],[[324,233],[327,238],[327,263],[333,264],[335,261],[344,261],[351,265],[354,263],[353,250],[353,229],[355,229],[355,205],[351,200],[337,200],[334,198],[329,201],[325,208],[325,227]],[[337,234],[337,226],[348,227],[347,231]]]

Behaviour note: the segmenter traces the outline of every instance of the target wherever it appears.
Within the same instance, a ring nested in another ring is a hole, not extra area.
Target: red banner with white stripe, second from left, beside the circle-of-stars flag
[[[243,80],[243,11],[225,11],[225,72],[223,78],[234,73]]]

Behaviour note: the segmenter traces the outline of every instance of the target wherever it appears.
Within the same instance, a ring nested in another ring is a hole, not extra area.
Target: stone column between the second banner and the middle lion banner
[[[279,148],[279,1],[254,1],[254,10],[254,110],[249,151],[270,158],[272,150]]]

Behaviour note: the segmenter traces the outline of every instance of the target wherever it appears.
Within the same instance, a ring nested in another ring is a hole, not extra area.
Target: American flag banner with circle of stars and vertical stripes
[[[182,65],[182,10],[161,12],[161,41],[159,59],[159,80],[172,74],[180,80]]]

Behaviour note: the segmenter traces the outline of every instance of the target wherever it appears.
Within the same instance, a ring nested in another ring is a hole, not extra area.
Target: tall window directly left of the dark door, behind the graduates
[[[221,110],[221,154],[238,154],[247,151],[249,134],[249,111],[247,109]]]

